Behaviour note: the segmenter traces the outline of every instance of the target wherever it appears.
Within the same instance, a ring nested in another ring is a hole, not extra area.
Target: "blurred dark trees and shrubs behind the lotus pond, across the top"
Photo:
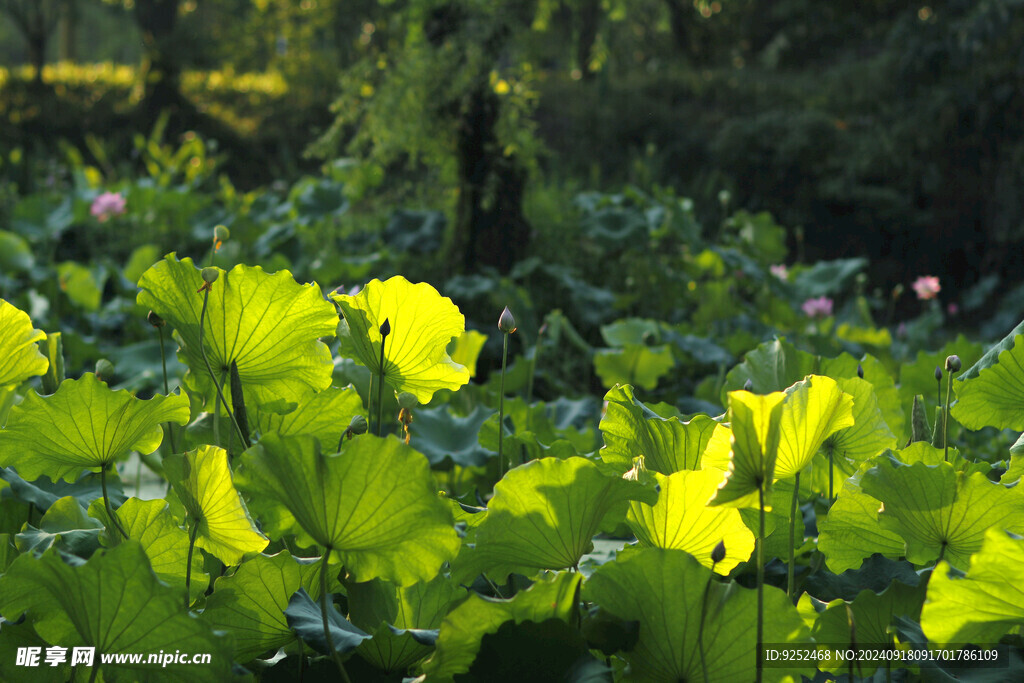
[[[417,223],[430,249],[388,261],[411,276],[514,278],[539,256],[644,296],[658,259],[593,263],[600,230],[560,246],[601,191],[623,210],[687,198],[690,239],[768,212],[783,255],[868,256],[884,297],[922,273],[946,291],[1012,284],[1022,4],[0,0],[0,221],[25,198],[143,176],[240,222],[326,203],[332,220],[302,229],[350,258],[389,226],[411,234],[396,210],[440,212]],[[198,215],[182,236],[208,227]]]

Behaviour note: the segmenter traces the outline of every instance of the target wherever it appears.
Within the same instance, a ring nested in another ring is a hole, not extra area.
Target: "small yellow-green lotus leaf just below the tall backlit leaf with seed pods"
[[[332,451],[356,415],[365,415],[365,411],[362,399],[351,386],[329,387],[300,401],[298,408],[287,415],[260,410],[260,407],[249,410],[250,421],[261,434],[308,434]]]

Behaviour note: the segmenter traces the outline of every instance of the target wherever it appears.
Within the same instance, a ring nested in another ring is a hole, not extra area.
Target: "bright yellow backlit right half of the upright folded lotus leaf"
[[[853,396],[836,380],[811,375],[786,391],[779,417],[778,455],[774,476],[785,479],[807,467],[825,438],[852,427]]]

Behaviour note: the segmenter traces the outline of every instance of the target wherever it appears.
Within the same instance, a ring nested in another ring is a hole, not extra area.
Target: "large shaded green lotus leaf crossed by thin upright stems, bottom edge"
[[[640,638],[629,652],[623,680],[752,681],[757,657],[757,594],[712,581],[712,572],[678,550],[646,548],[603,564],[584,586],[585,600],[623,620],[640,622]],[[703,663],[697,634],[703,610]],[[671,605],[671,608],[667,606]],[[808,628],[782,591],[764,589],[764,642],[809,642]],[[707,674],[707,675],[706,675]],[[765,680],[812,675],[811,669],[765,669]]]

